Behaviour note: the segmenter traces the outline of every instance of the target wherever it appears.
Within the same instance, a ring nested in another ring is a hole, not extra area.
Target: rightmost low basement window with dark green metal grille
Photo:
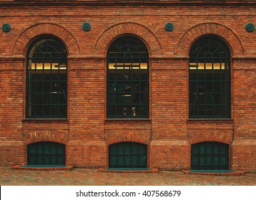
[[[192,170],[228,170],[229,145],[220,142],[192,144]]]

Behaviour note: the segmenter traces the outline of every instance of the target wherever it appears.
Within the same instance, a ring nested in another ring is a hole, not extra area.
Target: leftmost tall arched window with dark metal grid
[[[26,117],[67,117],[67,50],[55,37],[37,39],[29,47]]]

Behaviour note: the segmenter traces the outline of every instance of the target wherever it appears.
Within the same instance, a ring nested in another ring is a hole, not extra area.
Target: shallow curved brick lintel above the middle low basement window
[[[128,133],[128,134],[112,133],[112,134],[106,135],[107,145],[124,142],[124,141],[137,142],[137,143],[142,143],[147,145],[150,142],[149,134],[147,133],[142,133],[139,136],[137,133]]]

